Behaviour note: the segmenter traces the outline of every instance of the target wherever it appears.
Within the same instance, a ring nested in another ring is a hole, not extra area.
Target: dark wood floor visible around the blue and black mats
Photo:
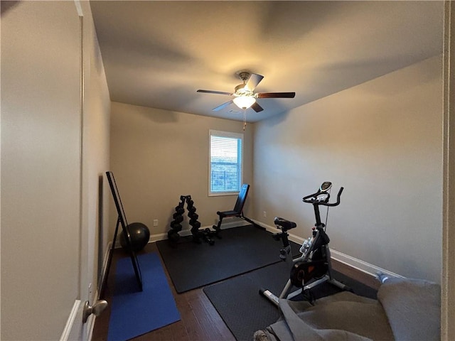
[[[156,248],[155,243],[148,244],[143,252],[156,251],[159,254],[158,249]],[[126,256],[122,249],[117,249],[114,252],[112,259],[112,267],[110,270],[110,275],[107,280],[107,287],[105,288],[105,300],[111,301],[112,297],[112,288],[114,286],[114,273],[115,273],[115,262],[119,257]],[[160,256],[161,259],[161,256]],[[168,278],[169,286],[173,293],[173,297],[176,300],[176,305],[178,312],[181,315],[181,320],[168,325],[164,328],[154,330],[145,335],[134,338],[137,341],[143,340],[154,340],[154,341],[213,341],[213,340],[235,340],[234,335],[230,332],[228,327],[225,325],[221,319],[218,312],[213,307],[212,303],[208,300],[205,293],[203,293],[202,288],[194,289],[192,291],[187,291],[186,293],[176,293],[175,288],[171,278],[166,271],[166,266],[164,266],[163,260],[161,259],[161,264],[163,264],[164,271]],[[346,276],[356,279],[361,283],[364,283],[372,288],[378,288],[379,282],[375,280],[372,276],[346,266],[345,264],[339,263],[337,261],[332,261],[332,266],[334,270],[337,270]],[[102,315],[100,315],[95,320],[95,328],[93,330],[92,340],[93,341],[102,341],[107,340],[107,329],[109,327],[109,316],[110,309],[109,307],[105,310]]]

